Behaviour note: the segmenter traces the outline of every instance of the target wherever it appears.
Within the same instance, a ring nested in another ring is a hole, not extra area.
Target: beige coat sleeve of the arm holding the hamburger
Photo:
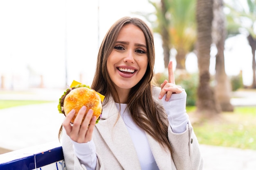
[[[70,138],[67,136],[65,129],[63,128],[62,133],[62,149],[67,170],[87,170],[83,164],[80,163],[79,159],[74,154],[73,144]],[[97,166],[96,170],[100,170],[99,156],[97,155]]]

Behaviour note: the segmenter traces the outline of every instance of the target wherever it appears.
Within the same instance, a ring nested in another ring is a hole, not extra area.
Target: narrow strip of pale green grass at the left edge
[[[42,104],[52,101],[41,101],[41,100],[0,100],[0,109],[6,109],[10,107],[22,106],[22,105],[34,105]]]

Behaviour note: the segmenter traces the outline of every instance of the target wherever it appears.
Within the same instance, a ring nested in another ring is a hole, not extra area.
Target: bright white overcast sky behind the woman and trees
[[[147,0],[0,0],[0,76],[16,88],[27,87],[29,77],[38,82],[38,75],[43,75],[46,87],[63,87],[67,59],[68,83],[79,81],[82,74],[82,83],[90,85],[99,43],[108,28],[120,17],[139,17],[132,12],[153,10]],[[158,35],[155,46],[155,72],[162,72]],[[226,46],[227,74],[243,70],[244,83],[251,84],[252,54],[245,36],[233,37]],[[197,71],[195,55],[189,55],[186,66],[190,72]]]

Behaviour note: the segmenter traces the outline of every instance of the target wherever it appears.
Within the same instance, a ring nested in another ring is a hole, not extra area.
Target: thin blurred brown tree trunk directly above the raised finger
[[[162,23],[160,23],[162,47],[164,50],[164,68],[168,68],[170,61],[170,35],[168,32],[168,21],[166,19],[167,7],[164,0],[161,0]]]

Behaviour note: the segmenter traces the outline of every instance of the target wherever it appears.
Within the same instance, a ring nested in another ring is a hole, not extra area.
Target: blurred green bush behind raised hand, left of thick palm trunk
[[[198,74],[189,74],[186,70],[175,71],[175,84],[186,90],[186,105],[194,106],[197,98]],[[161,85],[164,80],[168,80],[168,73],[158,73],[155,75],[157,85]]]

